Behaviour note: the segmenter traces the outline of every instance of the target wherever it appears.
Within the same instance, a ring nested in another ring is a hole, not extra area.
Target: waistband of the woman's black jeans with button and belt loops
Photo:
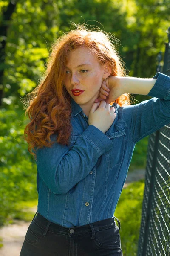
[[[102,229],[107,229],[107,228],[116,226],[116,221],[115,221],[116,217],[115,216],[113,216],[112,218],[102,220],[102,221],[96,221],[93,223],[89,223],[89,224],[86,224],[83,226],[64,227],[64,226],[61,226],[59,224],[56,224],[56,223],[51,222],[48,219],[44,218],[42,215],[40,215],[39,212],[38,213],[36,212],[36,214],[34,215],[33,220],[37,225],[39,225],[40,227],[45,229],[44,236],[45,236],[47,230],[54,232],[54,233],[60,233],[60,234],[65,234],[65,235],[69,234],[70,236],[75,236],[77,234],[89,233],[91,231],[92,231],[92,233],[94,233],[95,231],[99,231]],[[117,221],[119,221],[119,220],[117,219]],[[120,229],[120,225],[119,225],[119,229]]]

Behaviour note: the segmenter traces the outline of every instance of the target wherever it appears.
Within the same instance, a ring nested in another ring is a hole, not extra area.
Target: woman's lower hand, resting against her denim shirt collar
[[[111,127],[116,118],[114,107],[110,107],[105,100],[94,103],[88,116],[88,124],[94,125],[100,131],[105,133]]]

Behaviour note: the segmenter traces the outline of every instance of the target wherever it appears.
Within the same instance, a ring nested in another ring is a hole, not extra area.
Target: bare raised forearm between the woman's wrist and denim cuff
[[[124,93],[147,95],[156,82],[155,78],[121,77]]]

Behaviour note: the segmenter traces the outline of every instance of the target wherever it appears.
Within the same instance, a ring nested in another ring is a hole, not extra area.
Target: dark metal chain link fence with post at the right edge
[[[161,52],[157,72],[170,76],[170,28],[164,67]],[[170,256],[170,124],[150,134],[138,256]]]

